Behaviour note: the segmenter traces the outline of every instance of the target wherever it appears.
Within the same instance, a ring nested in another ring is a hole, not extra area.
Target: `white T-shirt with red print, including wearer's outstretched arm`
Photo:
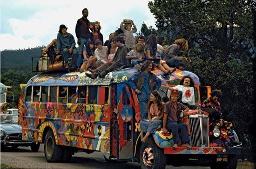
[[[173,87],[178,91],[182,91],[182,102],[190,105],[195,104],[194,87],[184,87],[183,85],[176,85]],[[168,90],[167,96],[170,97],[171,91]]]

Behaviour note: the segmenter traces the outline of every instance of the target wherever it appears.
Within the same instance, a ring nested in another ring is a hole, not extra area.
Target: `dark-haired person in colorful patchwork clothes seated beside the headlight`
[[[210,117],[210,126],[214,126],[214,129],[226,129],[229,137],[229,143],[225,143],[226,146],[233,146],[238,144],[235,140],[233,124],[231,122],[223,120],[221,104],[219,103],[219,98],[222,96],[221,90],[213,90],[210,93],[210,97],[206,98],[201,106],[202,110],[209,112]],[[229,144],[229,145],[228,145]]]

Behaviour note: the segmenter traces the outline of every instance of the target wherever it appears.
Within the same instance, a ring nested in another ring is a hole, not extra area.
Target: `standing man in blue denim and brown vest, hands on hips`
[[[159,90],[162,81],[150,71],[154,71],[154,64],[147,60],[141,65],[141,71],[128,79],[128,85],[138,94],[142,119],[148,119],[147,104],[151,91]]]

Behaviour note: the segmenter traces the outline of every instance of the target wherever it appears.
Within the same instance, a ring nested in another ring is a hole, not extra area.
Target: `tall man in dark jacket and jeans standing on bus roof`
[[[82,59],[82,52],[83,49],[85,47],[86,50],[86,44],[88,41],[91,41],[90,37],[90,31],[89,29],[92,31],[92,28],[90,27],[91,23],[90,21],[87,19],[88,17],[88,9],[84,8],[82,10],[82,18],[78,19],[76,22],[76,26],[75,26],[75,35],[77,37],[77,44],[79,45],[78,47],[78,59],[77,59],[77,67],[81,66],[81,59]]]

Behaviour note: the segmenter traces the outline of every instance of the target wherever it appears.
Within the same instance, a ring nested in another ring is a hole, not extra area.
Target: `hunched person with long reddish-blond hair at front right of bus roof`
[[[170,45],[163,53],[163,60],[166,61],[169,67],[176,67],[180,70],[186,69],[186,66],[182,66],[182,60],[185,59],[182,56],[182,51],[187,51],[189,49],[189,42],[182,38],[176,39],[174,44]]]

